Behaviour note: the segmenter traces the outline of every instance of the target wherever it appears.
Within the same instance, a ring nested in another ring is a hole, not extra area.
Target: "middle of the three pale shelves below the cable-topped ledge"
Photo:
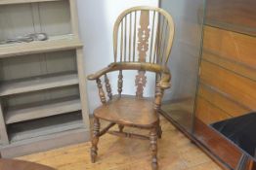
[[[30,119],[40,119],[81,110],[80,99],[76,96],[31,103],[6,111],[6,124]]]

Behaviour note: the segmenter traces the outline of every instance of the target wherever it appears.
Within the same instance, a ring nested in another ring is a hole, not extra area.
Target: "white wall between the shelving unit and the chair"
[[[112,27],[116,17],[125,9],[134,6],[158,6],[158,0],[77,0],[80,36],[84,44],[86,75],[106,67],[113,61]],[[125,75],[124,75],[125,77]],[[112,86],[117,77],[110,77]],[[128,83],[129,82],[129,83]],[[124,87],[134,85],[134,78],[124,79]],[[95,82],[88,82],[88,106],[90,113],[100,105]],[[132,93],[124,88],[124,93]],[[116,88],[113,88],[115,92]],[[133,93],[134,94],[134,93]]]

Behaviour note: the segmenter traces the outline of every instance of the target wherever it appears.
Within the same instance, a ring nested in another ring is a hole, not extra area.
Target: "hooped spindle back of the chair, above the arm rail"
[[[174,36],[173,18],[157,7],[130,8],[113,28],[114,62],[168,62]]]

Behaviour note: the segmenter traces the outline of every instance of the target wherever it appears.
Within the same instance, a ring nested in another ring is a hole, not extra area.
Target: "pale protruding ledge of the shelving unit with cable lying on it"
[[[82,47],[82,43],[72,34],[50,37],[46,41],[14,43],[0,46],[0,58],[14,55],[32,54],[48,51],[64,51]]]

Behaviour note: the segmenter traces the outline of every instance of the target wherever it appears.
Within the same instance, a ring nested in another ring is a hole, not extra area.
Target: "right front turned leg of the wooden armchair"
[[[156,128],[151,129],[149,133],[150,150],[151,150],[151,166],[152,170],[158,169],[157,164],[157,130]]]

